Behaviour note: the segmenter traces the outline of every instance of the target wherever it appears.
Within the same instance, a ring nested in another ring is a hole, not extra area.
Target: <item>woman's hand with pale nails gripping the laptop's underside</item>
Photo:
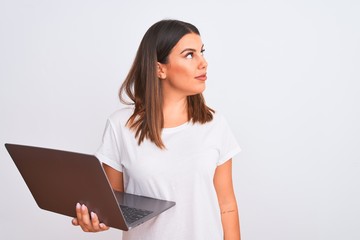
[[[101,232],[109,229],[104,223],[100,223],[96,213],[89,213],[88,208],[80,203],[76,204],[76,218],[71,222],[74,226],[80,226],[84,232]]]

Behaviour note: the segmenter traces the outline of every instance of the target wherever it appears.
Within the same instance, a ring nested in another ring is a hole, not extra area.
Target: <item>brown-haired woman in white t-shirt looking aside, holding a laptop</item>
[[[114,190],[176,202],[123,239],[240,239],[231,160],[240,148],[226,120],[205,104],[203,52],[195,26],[157,22],[120,88],[131,107],[110,116],[96,156]],[[76,212],[73,224],[83,231],[108,229],[86,206]]]

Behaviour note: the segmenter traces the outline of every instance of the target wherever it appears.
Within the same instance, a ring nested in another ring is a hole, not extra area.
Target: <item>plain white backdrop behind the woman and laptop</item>
[[[360,239],[359,12],[356,0],[1,0],[0,239],[121,239],[40,210],[3,144],[95,152],[164,18],[202,34],[207,102],[243,149],[243,239]]]

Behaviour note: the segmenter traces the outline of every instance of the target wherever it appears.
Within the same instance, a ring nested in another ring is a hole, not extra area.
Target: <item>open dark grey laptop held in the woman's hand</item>
[[[94,155],[9,143],[5,147],[41,209],[76,217],[76,203],[85,204],[100,222],[128,231],[175,205],[114,191]]]

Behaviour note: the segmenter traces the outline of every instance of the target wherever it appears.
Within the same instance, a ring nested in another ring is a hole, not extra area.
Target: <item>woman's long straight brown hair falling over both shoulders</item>
[[[145,138],[165,148],[161,139],[164,127],[163,95],[157,76],[157,63],[168,63],[168,56],[177,42],[186,34],[200,35],[192,24],[178,20],[162,20],[145,33],[137,50],[133,65],[120,87],[121,102],[135,105],[127,124],[135,131],[140,145]],[[124,98],[124,93],[129,100]],[[214,110],[207,107],[203,95],[187,97],[188,120],[204,124],[213,119]]]

